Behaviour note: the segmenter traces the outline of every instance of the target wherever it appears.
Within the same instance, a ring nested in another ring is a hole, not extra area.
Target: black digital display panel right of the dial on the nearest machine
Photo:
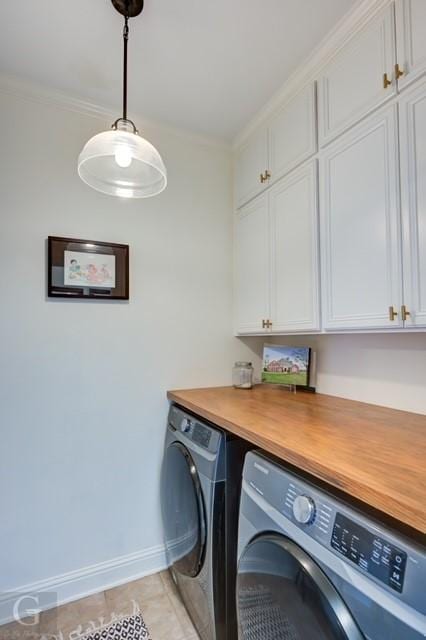
[[[381,582],[402,593],[407,554],[379,536],[336,514],[331,546]]]

